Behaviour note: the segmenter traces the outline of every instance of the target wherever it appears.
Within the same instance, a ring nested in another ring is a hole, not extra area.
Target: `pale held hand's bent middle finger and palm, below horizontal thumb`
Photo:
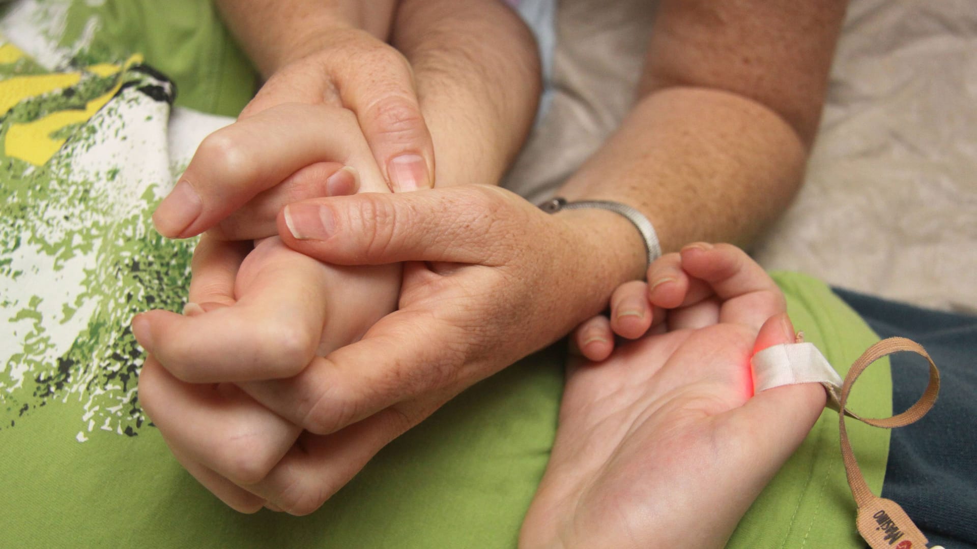
[[[188,315],[150,311],[134,320],[140,343],[185,381],[292,377],[396,309],[399,264],[327,265],[277,236],[241,261],[243,252],[204,236],[194,253]]]

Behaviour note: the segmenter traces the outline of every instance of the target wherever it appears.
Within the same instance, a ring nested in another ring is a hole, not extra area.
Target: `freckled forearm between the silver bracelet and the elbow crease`
[[[642,99],[561,192],[638,208],[664,251],[696,240],[743,245],[784,210],[805,160],[769,108],[716,90],[664,89]]]

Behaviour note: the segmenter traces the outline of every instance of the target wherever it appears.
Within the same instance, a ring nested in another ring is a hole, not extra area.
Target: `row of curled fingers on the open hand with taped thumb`
[[[721,295],[710,284],[722,276],[732,288],[749,280],[769,279],[743,250],[732,244],[697,242],[659,257],[648,268],[647,282],[632,280],[617,287],[611,296],[611,317],[597,316],[573,331],[573,346],[587,359],[607,359],[615,348],[615,334],[637,339],[649,331],[661,333],[700,327],[721,316],[723,307],[748,302],[762,305],[782,303],[780,290],[757,290],[739,295],[736,302],[720,301]],[[743,313],[745,315],[745,313]]]

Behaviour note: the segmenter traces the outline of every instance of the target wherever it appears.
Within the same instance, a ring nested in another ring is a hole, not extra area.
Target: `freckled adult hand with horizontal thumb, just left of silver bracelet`
[[[235,371],[241,391],[222,395],[147,362],[143,376],[159,391],[155,401],[170,402],[173,417],[194,426],[176,444],[194,452],[178,458],[243,511],[265,502],[293,514],[314,511],[444,402],[599,311],[626,271],[619,263],[641,266],[640,241],[633,258],[613,257],[609,235],[594,229],[607,225],[595,218],[613,225],[616,214],[551,216],[483,186],[326,198],[285,212],[282,240],[306,255],[338,265],[408,263],[398,311],[293,377],[267,380],[230,355],[173,372],[201,381],[210,371]],[[289,424],[304,431],[294,445]]]

